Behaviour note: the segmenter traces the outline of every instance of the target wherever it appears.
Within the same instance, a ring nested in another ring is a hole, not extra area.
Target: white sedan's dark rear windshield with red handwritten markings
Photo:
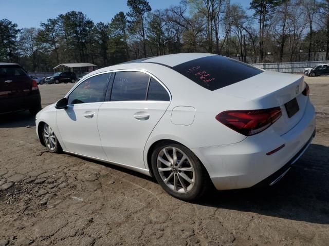
[[[261,69],[221,55],[190,60],[172,69],[211,91],[263,72]]]

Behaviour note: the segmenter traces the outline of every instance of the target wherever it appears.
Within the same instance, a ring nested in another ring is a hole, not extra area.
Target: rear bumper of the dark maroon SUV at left
[[[41,96],[39,91],[32,95],[0,99],[0,113],[27,110],[37,107],[41,107]]]

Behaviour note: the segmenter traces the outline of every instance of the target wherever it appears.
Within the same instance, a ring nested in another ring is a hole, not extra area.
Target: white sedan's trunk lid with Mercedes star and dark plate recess
[[[301,75],[265,71],[259,75],[217,90],[218,93],[253,101],[259,109],[280,107],[282,116],[272,125],[280,135],[292,129],[302,118],[308,97],[302,94]]]

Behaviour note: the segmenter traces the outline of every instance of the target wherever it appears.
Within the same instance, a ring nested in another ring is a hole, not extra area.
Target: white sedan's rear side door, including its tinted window
[[[98,113],[103,149],[109,161],[144,169],[144,146],[166,112],[170,94],[144,72],[117,72],[112,81],[111,98]]]

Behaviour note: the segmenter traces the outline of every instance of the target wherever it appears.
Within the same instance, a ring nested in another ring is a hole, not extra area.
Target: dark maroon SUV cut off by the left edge
[[[38,84],[20,65],[0,63],[0,113],[19,110],[41,110]]]

